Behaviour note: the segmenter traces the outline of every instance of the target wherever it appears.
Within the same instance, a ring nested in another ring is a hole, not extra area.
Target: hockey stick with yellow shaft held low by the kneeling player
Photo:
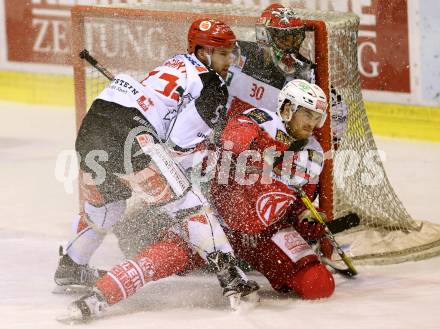
[[[345,263],[345,265],[347,265],[347,269],[335,268],[334,266],[330,264],[329,265],[332,266],[340,274],[343,274],[348,277],[355,276],[357,274],[357,270],[354,267],[352,260],[350,259],[350,257],[347,256],[347,254],[342,250],[339,243],[335,240],[333,233],[330,231],[329,227],[327,226],[327,223],[324,221],[320,213],[316,210],[312,201],[310,201],[309,197],[300,186],[293,185],[293,188],[298,193],[298,195],[300,196],[302,202],[307,207],[307,209],[309,209],[312,212],[313,216],[315,217],[314,219],[325,227],[326,236],[329,238],[330,243],[336,249],[336,252],[341,257],[342,261]]]

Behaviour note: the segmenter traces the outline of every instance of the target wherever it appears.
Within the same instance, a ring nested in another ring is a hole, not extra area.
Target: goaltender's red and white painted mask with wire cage
[[[293,73],[306,31],[294,11],[272,4],[262,12],[255,30],[257,43],[270,50],[274,64],[284,73]]]

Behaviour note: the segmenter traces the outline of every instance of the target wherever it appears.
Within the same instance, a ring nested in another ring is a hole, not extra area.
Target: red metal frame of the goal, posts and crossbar
[[[87,112],[87,95],[86,95],[86,70],[88,65],[79,58],[79,53],[85,48],[85,20],[93,18],[108,18],[129,20],[133,18],[141,19],[169,19],[170,24],[178,24],[179,22],[191,22],[201,17],[213,17],[220,19],[227,24],[234,26],[254,27],[257,21],[255,16],[234,16],[219,15],[193,12],[172,12],[172,11],[156,11],[139,8],[128,7],[101,7],[101,6],[84,6],[76,5],[71,9],[71,33],[72,33],[72,65],[74,73],[74,90],[75,90],[75,109],[76,109],[76,127],[79,126]],[[324,21],[320,20],[303,20],[307,30],[314,31],[315,35],[315,62],[316,83],[324,90],[327,99],[330,100],[329,85],[329,60],[328,60],[328,38],[327,28]],[[186,33],[186,31],[185,31]],[[186,39],[184,34],[182,37]],[[93,54],[92,54],[93,55]],[[173,55],[173,54],[170,54]],[[99,58],[97,58],[99,60]],[[123,60],[123,59],[121,59]],[[162,59],[163,60],[163,59]],[[148,68],[148,69],[152,69]],[[329,104],[331,102],[329,101]],[[327,108],[327,114],[330,118],[330,107]],[[326,120],[324,126],[316,133],[318,141],[321,143],[324,152],[329,154],[332,150],[332,138],[330,129],[330,119]],[[329,219],[333,219],[333,162],[331,157],[325,158],[325,165],[320,176],[319,206],[326,213]]]

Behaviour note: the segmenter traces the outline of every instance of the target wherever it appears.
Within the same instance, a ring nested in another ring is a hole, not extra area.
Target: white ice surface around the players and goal
[[[77,209],[55,179],[57,155],[72,149],[72,109],[0,103],[0,328],[64,328],[55,321],[74,296],[54,295],[60,243]],[[412,216],[440,223],[440,144],[378,138],[392,185]],[[107,237],[92,259],[121,259]],[[438,329],[440,257],[390,266],[363,266],[355,280],[336,276],[325,301],[302,301],[262,285],[261,303],[228,310],[214,277],[171,277],[149,284],[90,328]]]

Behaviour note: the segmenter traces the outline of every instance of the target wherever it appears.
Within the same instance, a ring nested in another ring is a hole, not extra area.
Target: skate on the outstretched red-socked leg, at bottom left
[[[67,313],[58,317],[57,320],[66,324],[84,323],[97,318],[107,309],[108,303],[98,290],[72,302]]]

